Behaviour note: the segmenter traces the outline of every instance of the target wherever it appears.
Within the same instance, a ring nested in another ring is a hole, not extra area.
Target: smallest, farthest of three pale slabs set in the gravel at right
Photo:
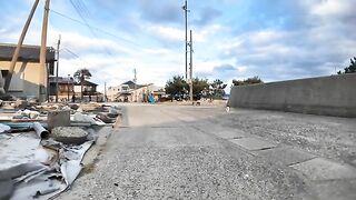
[[[257,138],[241,138],[241,139],[234,139],[230,141],[250,151],[270,149],[276,147],[276,144],[274,143],[270,143]]]

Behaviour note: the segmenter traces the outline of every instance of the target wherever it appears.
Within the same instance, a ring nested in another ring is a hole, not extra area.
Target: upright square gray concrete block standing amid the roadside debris
[[[47,123],[49,129],[55,127],[69,127],[70,126],[70,111],[50,111],[47,116]]]

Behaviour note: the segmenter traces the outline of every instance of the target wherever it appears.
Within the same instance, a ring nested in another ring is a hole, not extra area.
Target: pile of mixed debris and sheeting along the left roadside
[[[115,127],[121,109],[99,103],[2,101],[0,199],[48,199],[79,176],[99,130]]]

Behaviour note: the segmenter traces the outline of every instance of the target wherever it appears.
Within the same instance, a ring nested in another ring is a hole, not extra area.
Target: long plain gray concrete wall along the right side
[[[356,117],[356,74],[233,87],[228,106]]]

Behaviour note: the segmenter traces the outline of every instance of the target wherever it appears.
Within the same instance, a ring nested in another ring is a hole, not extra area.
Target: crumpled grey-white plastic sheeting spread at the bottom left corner
[[[34,132],[0,134],[0,184],[13,190],[13,200],[49,199],[69,188],[79,176],[81,160],[93,141],[67,146],[40,140]],[[20,148],[19,148],[20,147]]]

